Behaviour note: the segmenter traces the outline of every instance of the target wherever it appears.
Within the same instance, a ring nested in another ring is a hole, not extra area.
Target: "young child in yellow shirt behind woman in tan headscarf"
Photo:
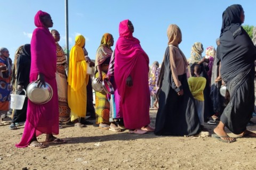
[[[194,72],[191,72],[192,77],[188,79],[189,89],[191,94],[195,98],[197,114],[200,120],[200,124],[204,124],[204,88],[206,84],[206,79],[200,77],[201,67],[196,64],[194,67]]]

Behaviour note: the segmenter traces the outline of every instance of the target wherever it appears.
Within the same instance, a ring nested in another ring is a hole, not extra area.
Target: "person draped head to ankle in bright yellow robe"
[[[68,105],[71,109],[71,122],[74,122],[75,127],[78,128],[86,126],[86,86],[89,81],[89,75],[87,74],[84,47],[84,36],[76,36],[75,45],[70,50],[68,67]]]

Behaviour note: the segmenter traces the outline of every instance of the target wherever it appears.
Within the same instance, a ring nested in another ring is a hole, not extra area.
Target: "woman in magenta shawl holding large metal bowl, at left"
[[[27,120],[25,129],[18,148],[33,147],[45,148],[46,145],[39,143],[38,135],[46,134],[45,143],[63,143],[53,134],[59,134],[59,113],[56,72],[56,45],[49,31],[53,26],[50,14],[38,11],[35,15],[36,29],[31,39],[31,68],[30,82],[38,82],[38,87],[49,83],[53,89],[53,97],[46,104],[35,104],[28,100]]]

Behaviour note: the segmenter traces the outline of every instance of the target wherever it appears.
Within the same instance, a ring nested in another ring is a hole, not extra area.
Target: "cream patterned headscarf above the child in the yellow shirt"
[[[191,48],[190,59],[189,62],[191,64],[198,63],[202,60],[202,53],[204,51],[202,43],[194,43]]]

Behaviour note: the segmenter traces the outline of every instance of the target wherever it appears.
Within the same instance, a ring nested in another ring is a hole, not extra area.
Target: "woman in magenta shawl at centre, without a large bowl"
[[[119,24],[119,38],[115,48],[115,81],[121,96],[123,119],[129,133],[154,131],[149,126],[150,94],[148,87],[149,58],[132,36],[132,22]]]

